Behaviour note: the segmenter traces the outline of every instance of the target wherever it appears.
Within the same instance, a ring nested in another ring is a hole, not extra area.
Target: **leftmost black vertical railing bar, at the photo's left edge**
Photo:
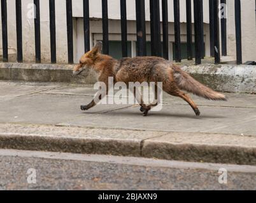
[[[7,29],[6,0],[1,0],[1,13],[2,13],[3,62],[8,62],[8,29]]]

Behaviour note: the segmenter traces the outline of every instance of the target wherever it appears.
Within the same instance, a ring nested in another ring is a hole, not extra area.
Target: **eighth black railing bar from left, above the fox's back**
[[[122,32],[122,56],[128,56],[127,48],[127,11],[126,0],[120,0],[120,12],[121,12],[121,32]]]

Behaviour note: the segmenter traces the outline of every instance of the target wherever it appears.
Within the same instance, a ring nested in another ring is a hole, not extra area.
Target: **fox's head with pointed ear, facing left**
[[[90,67],[94,67],[94,62],[96,58],[101,54],[101,49],[102,49],[102,42],[99,41],[94,48],[92,48],[91,51],[88,51],[85,53],[79,61],[79,64],[75,66],[73,69],[73,75],[78,75],[83,70],[88,69]]]

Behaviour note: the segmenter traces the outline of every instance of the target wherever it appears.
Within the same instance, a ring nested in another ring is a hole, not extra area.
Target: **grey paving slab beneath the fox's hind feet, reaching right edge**
[[[201,116],[197,117],[188,105],[164,105],[160,112],[150,112],[143,117],[139,107],[134,106],[94,117],[80,117],[62,124],[256,136],[256,124],[253,124],[256,123],[256,108],[202,106],[200,110]],[[90,110],[87,114],[90,114]]]

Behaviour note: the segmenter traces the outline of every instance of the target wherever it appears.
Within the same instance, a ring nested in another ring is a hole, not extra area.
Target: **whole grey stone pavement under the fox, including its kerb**
[[[98,105],[92,85],[0,81],[0,148],[256,165],[256,95],[192,96],[201,116],[164,94],[143,117],[138,105]]]

